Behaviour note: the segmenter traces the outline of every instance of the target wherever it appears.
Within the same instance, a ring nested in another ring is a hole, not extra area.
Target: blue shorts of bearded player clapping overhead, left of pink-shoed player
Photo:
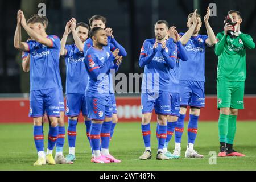
[[[84,93],[70,93],[66,95],[67,109],[65,115],[77,117],[82,111],[82,115],[87,116],[86,98]]]

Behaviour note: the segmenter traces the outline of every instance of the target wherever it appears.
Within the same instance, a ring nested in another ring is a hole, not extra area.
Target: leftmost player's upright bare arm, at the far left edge
[[[21,13],[22,11],[19,10],[17,14],[17,26],[14,35],[14,47],[19,51],[29,51],[29,47],[27,43],[22,42],[22,35],[21,35]]]

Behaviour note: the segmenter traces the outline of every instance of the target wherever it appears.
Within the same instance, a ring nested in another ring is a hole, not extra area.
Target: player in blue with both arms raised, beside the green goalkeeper
[[[188,146],[185,152],[185,158],[203,158],[198,154],[193,146],[197,135],[198,120],[200,108],[205,106],[205,48],[211,47],[216,43],[216,36],[208,22],[210,9],[204,17],[205,27],[208,35],[200,35],[199,31],[202,26],[201,16],[196,13],[188,15],[188,31],[180,33],[181,43],[184,45],[188,61],[181,61],[179,69],[180,79],[180,117],[175,129],[175,150],[174,155],[180,156],[181,136],[184,130],[184,119],[187,112],[187,106],[190,106],[190,117],[188,122]]]

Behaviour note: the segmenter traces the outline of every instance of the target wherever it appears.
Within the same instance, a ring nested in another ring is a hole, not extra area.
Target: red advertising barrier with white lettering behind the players
[[[118,121],[134,122],[141,121],[141,98],[140,97],[117,97]],[[28,117],[29,101],[26,99],[1,99],[0,100],[0,123],[27,123],[32,122]],[[256,96],[245,97],[245,110],[240,110],[238,120],[256,120]],[[188,112],[187,112],[188,115]],[[187,117],[188,119],[188,117]],[[65,117],[67,121],[67,117]],[[82,121],[80,115],[79,120]],[[205,108],[201,110],[201,121],[217,121],[217,97],[207,97]],[[152,121],[156,121],[153,114]]]

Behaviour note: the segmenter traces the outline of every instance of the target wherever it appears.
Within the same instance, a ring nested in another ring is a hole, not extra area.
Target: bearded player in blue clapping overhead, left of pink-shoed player
[[[72,32],[75,44],[66,45],[68,35]],[[68,116],[68,144],[69,154],[67,161],[75,161],[76,126],[80,112],[84,117],[86,135],[89,139],[91,119],[87,117],[85,89],[88,84],[88,73],[84,64],[84,42],[88,38],[89,26],[86,23],[76,23],[72,18],[65,26],[61,39],[60,55],[65,57],[66,64],[66,99]]]

